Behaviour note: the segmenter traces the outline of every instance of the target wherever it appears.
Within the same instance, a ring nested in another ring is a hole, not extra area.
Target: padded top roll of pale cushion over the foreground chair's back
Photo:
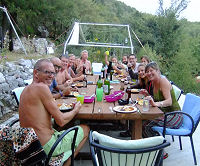
[[[100,134],[96,131],[93,133],[94,139],[99,140],[99,143],[104,146],[119,148],[119,149],[141,149],[160,145],[164,141],[163,136],[149,137],[139,140],[120,140],[110,136]]]

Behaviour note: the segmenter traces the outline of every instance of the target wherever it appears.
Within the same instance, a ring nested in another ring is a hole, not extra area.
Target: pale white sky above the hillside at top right
[[[158,9],[158,0],[118,0],[136,8],[143,13],[155,14]],[[169,6],[171,0],[164,0],[164,6]],[[180,18],[188,21],[200,22],[200,0],[190,0],[188,7],[181,13]]]

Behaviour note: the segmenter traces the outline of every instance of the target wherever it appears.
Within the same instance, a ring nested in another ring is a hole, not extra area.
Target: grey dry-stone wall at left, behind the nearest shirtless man
[[[16,62],[6,62],[0,65],[0,117],[10,111],[15,111],[17,103],[12,90],[25,86],[24,80],[33,77],[35,60],[20,59]]]

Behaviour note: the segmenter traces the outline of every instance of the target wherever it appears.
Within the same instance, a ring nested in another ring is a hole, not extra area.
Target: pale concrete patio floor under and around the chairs
[[[185,95],[181,95],[179,99],[179,104],[182,108],[183,103],[185,100]],[[100,133],[113,136],[115,138],[124,139],[122,137],[119,137],[120,131],[99,131]],[[200,135],[200,126],[198,125],[195,133],[193,134],[193,141],[194,141],[194,148],[196,152],[196,158],[197,158],[197,164],[200,165],[200,141],[199,141],[199,135]],[[192,166],[194,165],[193,155],[192,155],[192,149],[190,144],[189,137],[181,137],[182,138],[182,150],[180,150],[179,146],[179,140],[178,137],[174,137],[175,141],[172,141],[171,136],[166,136],[166,140],[171,143],[169,147],[165,149],[165,151],[168,153],[168,158],[163,161],[164,166],[172,166],[172,165],[180,165],[180,166]],[[130,139],[130,138],[126,138]],[[89,144],[84,146],[82,149],[82,152],[89,152]],[[75,166],[92,166],[91,160],[75,160]]]

